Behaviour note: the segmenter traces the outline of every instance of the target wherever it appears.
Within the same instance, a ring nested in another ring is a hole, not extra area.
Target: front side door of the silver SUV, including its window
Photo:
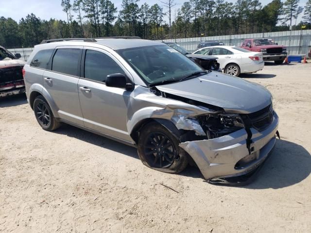
[[[129,77],[129,73],[110,53],[101,49],[85,47],[83,65],[78,92],[85,127],[132,141],[126,127],[131,92],[105,85],[107,75],[121,73]]]

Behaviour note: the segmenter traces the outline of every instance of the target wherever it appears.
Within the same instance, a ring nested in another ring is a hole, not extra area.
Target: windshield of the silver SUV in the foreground
[[[167,45],[138,47],[117,52],[148,85],[177,82],[196,72],[206,72],[188,57]]]

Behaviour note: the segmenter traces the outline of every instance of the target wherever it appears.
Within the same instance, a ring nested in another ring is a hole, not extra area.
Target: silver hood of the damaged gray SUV
[[[156,88],[165,93],[221,107],[227,113],[253,113],[268,106],[272,99],[265,87],[219,72],[210,72]]]

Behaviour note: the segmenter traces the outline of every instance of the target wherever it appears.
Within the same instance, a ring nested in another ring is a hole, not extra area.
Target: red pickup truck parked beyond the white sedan
[[[269,38],[246,39],[241,48],[262,52],[263,61],[274,61],[276,64],[282,64],[287,56],[286,47],[277,45]]]

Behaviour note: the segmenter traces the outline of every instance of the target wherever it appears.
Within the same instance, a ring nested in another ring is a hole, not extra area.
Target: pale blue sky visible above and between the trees
[[[71,0],[73,2],[73,0]],[[122,0],[111,0],[118,10],[121,9]],[[165,1],[165,0],[163,0]],[[185,0],[175,0],[179,5],[175,8],[180,8],[181,4]],[[235,2],[233,0],[228,0]],[[266,5],[271,0],[261,0],[262,5]],[[283,0],[284,1],[284,0]],[[163,5],[159,0],[139,0],[138,4],[141,5],[147,2],[149,5],[158,3],[160,6]],[[300,5],[304,6],[307,0],[300,0]],[[20,18],[26,17],[27,14],[34,13],[41,19],[49,20],[51,17],[56,19],[67,20],[66,13],[62,11],[61,0],[0,0],[0,16],[11,17],[17,22]],[[298,18],[297,23],[301,17]]]

